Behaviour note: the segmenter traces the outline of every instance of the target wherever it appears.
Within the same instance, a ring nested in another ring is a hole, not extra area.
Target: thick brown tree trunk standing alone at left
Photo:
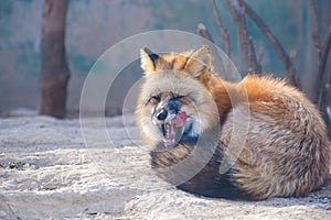
[[[68,0],[45,0],[42,18],[42,68],[39,113],[64,118],[70,69],[65,56]]]

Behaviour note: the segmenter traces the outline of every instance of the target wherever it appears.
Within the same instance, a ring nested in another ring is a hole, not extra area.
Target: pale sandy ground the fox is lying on
[[[131,117],[106,119],[108,139],[83,122],[88,138],[77,119],[0,119],[0,219],[331,219],[331,176],[306,198],[196,197],[150,169]]]

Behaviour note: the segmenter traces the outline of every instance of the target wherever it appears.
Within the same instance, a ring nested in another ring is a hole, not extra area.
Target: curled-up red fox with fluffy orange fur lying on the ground
[[[145,81],[136,117],[151,147],[152,167],[162,174],[179,165],[199,139],[216,128],[217,142],[202,143],[201,156],[215,145],[212,155],[178,188],[255,200],[301,197],[319,189],[330,172],[330,144],[317,108],[298,89],[270,76],[225,81],[211,72],[211,61],[207,46],[180,54],[141,50]],[[235,120],[247,124],[246,133],[235,128]],[[237,157],[231,143],[241,148]],[[225,160],[235,162],[223,174]]]

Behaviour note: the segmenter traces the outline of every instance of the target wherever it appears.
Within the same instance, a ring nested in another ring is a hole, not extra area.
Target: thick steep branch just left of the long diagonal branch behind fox
[[[233,20],[236,24],[236,28],[238,30],[239,41],[244,51],[244,56],[248,72],[255,72],[257,74],[260,74],[261,67],[257,62],[252,36],[247,29],[245,9],[241,7],[237,0],[227,0],[227,4]]]

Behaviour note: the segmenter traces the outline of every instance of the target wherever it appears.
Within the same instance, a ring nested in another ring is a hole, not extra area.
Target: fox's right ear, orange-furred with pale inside
[[[199,77],[205,69],[210,69],[212,56],[210,47],[202,46],[195,50],[188,58],[184,70],[193,77]]]

